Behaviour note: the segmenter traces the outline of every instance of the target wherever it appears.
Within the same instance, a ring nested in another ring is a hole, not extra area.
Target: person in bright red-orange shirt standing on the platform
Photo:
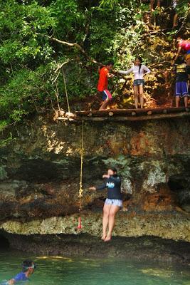
[[[102,95],[103,103],[99,110],[105,110],[107,105],[112,100],[112,94],[107,89],[108,88],[108,78],[112,78],[113,74],[110,71],[113,67],[113,61],[109,61],[106,66],[99,69],[99,81],[97,83],[97,91]]]

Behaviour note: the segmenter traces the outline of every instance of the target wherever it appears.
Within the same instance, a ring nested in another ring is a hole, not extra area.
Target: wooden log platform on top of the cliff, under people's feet
[[[160,120],[167,118],[190,117],[190,108],[89,110],[89,111],[75,112],[75,115],[76,115],[75,120],[86,120],[86,121]]]

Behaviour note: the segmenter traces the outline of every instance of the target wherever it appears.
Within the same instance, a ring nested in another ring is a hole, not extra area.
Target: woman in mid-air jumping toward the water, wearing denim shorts
[[[103,185],[89,189],[95,191],[107,188],[107,199],[103,208],[102,240],[110,242],[115,224],[115,214],[122,208],[121,178],[117,175],[115,167],[109,168],[107,175],[103,175],[102,178],[105,179]]]

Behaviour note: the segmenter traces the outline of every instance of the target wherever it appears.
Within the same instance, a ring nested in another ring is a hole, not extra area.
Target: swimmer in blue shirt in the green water
[[[3,283],[3,284],[12,285],[12,284],[16,284],[19,281],[28,281],[29,277],[34,272],[34,269],[36,269],[36,264],[33,261],[24,260],[22,263],[22,271],[16,276],[14,276],[14,278],[12,278],[9,281],[6,281],[6,283]]]

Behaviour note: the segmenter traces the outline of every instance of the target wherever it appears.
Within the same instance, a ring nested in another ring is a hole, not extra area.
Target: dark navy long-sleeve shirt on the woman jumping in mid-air
[[[96,187],[96,190],[103,190],[107,188],[108,199],[119,199],[122,200],[121,193],[121,178],[117,175],[112,175],[110,178],[105,180],[105,184]]]

